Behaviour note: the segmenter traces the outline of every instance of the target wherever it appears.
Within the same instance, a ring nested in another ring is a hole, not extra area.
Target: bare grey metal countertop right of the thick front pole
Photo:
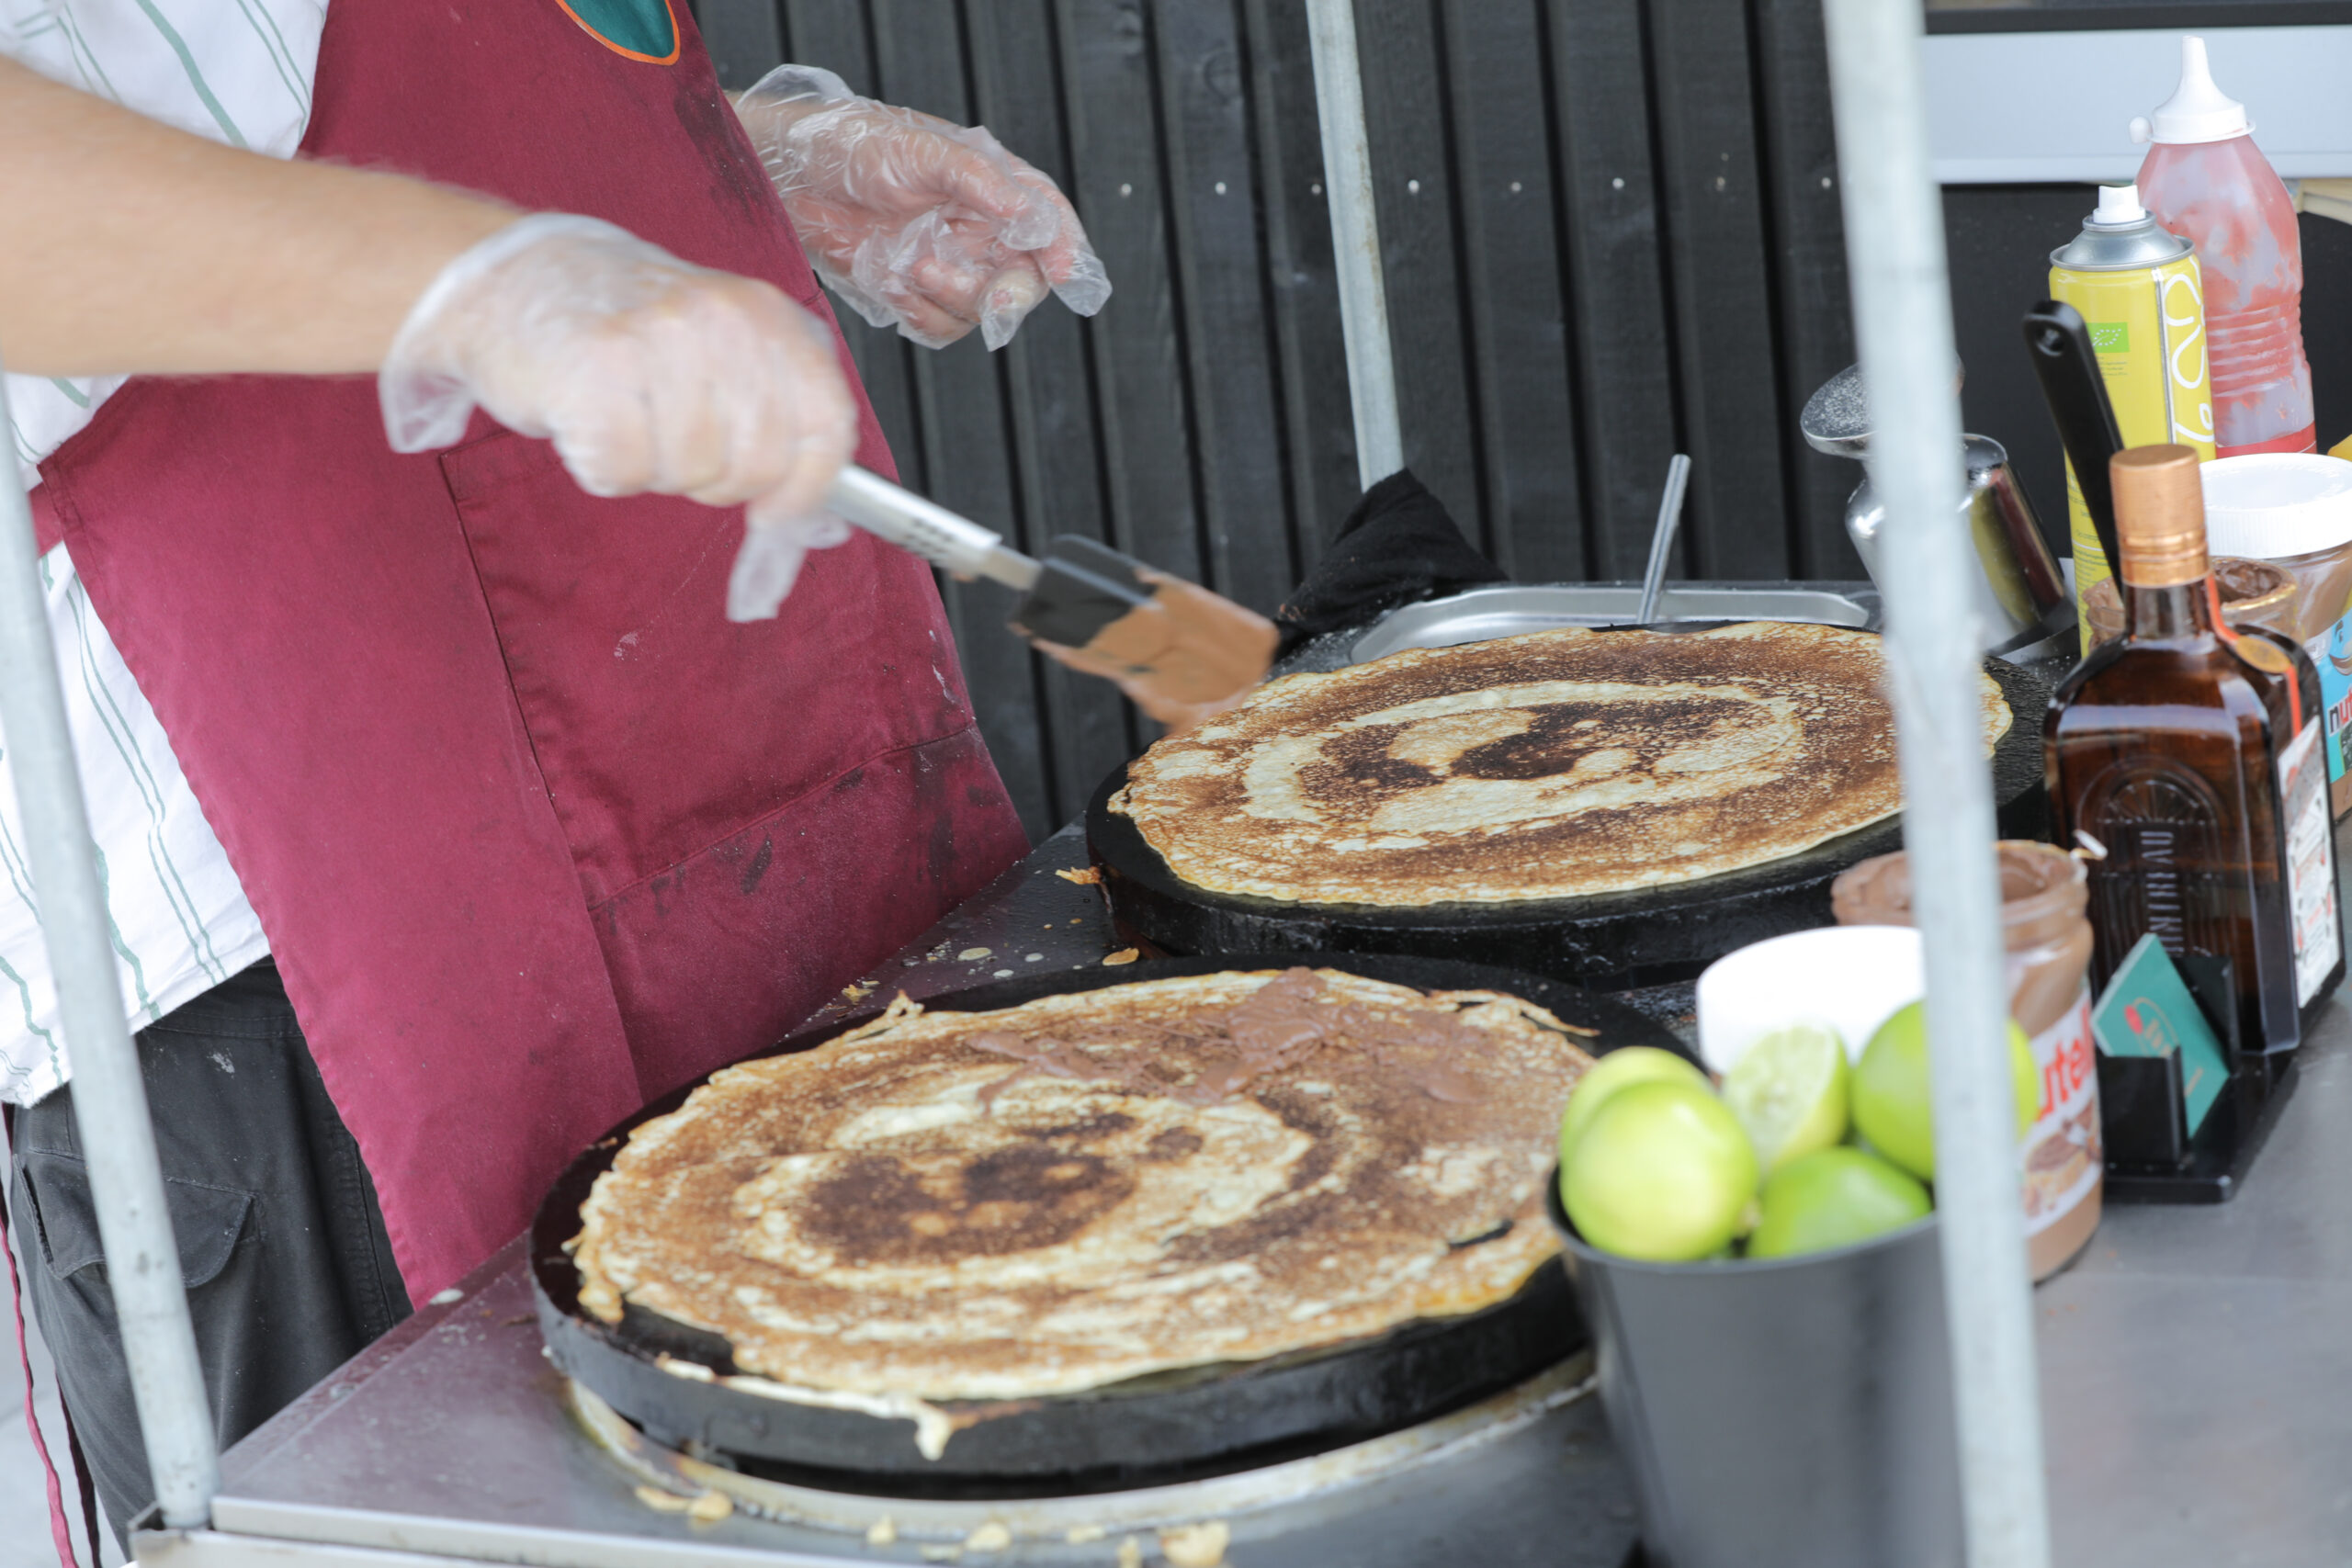
[[[2082,1260],[2037,1291],[2051,1561],[2352,1563],[2343,997],[2300,1077],[2232,1201],[2107,1208]]]

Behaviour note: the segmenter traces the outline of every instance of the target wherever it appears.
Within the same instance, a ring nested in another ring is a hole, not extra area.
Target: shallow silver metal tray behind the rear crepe
[[[1355,663],[1402,649],[1545,632],[1557,625],[1630,625],[1639,583],[1508,583],[1425,599],[1378,621],[1357,639]],[[1879,592],[1867,583],[1668,583],[1658,621],[1813,621],[1877,630]]]

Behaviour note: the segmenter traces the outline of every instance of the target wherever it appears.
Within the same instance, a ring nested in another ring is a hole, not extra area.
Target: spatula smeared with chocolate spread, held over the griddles
[[[1030,559],[1002,534],[863,468],[842,470],[826,508],[934,567],[1014,588],[1016,632],[1115,682],[1171,729],[1232,708],[1275,661],[1272,621],[1091,538],[1063,534],[1042,562]]]

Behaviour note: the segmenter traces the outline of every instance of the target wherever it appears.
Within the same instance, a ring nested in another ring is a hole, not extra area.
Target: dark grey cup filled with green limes
[[[1830,1025],[1769,1030],[1719,1091],[1611,1051],[1559,1154],[1552,1220],[1651,1561],[1957,1566],[1924,1011],[1858,1060]]]

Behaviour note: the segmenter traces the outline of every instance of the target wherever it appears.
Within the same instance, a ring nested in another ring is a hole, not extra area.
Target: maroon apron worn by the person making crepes
[[[586,31],[633,2],[334,0],[303,155],[609,219],[830,320],[684,7],[670,61]],[[894,473],[870,409],[858,461]],[[280,376],[132,381],[35,510],[261,914],[414,1300],[1023,851],[929,569],[863,534],[734,625],[741,510],[590,498],[480,416],[395,456],[374,381]]]

